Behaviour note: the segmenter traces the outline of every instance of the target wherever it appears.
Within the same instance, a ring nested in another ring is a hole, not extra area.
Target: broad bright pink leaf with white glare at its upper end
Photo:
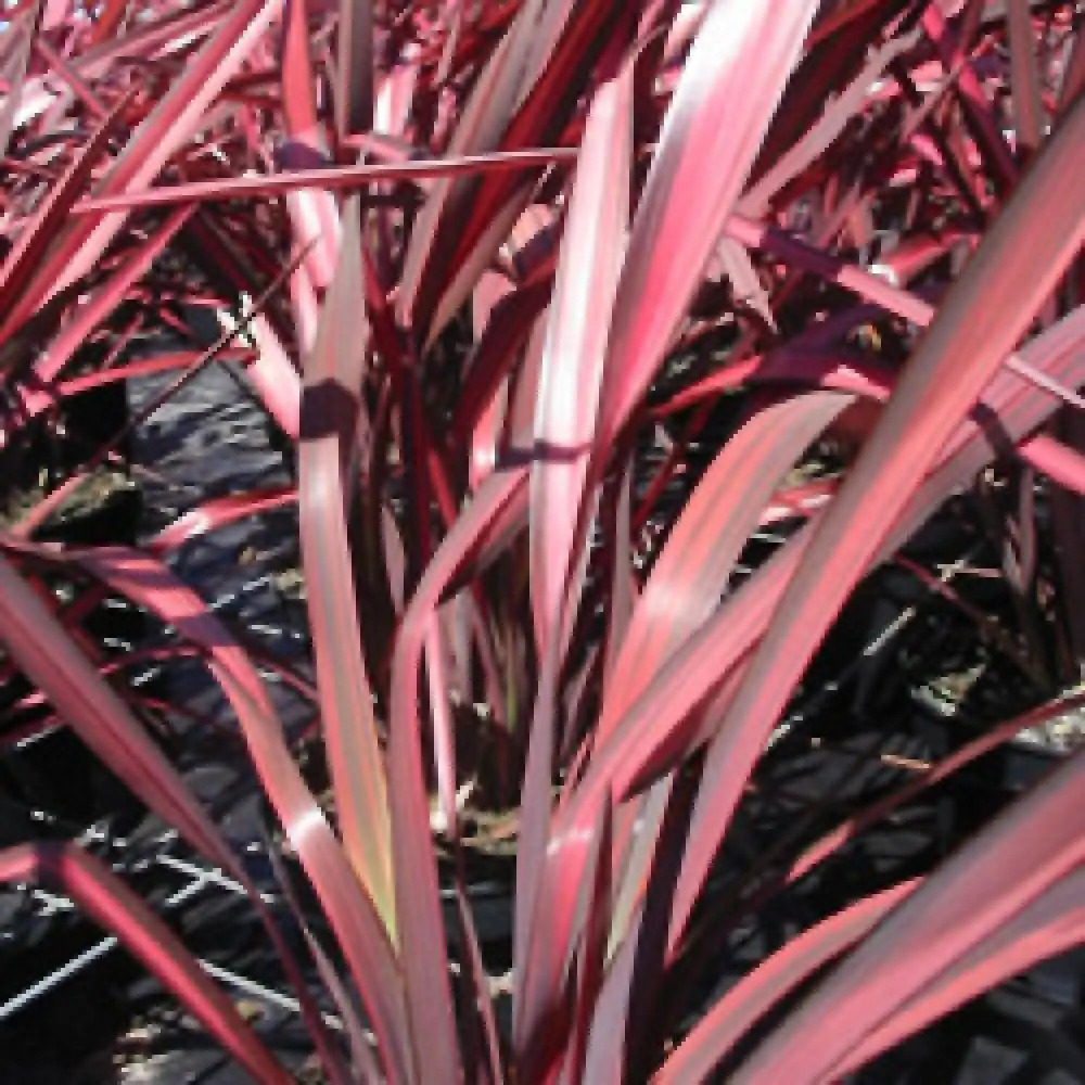
[[[667,110],[614,302],[598,455],[648,387],[742,191],[817,11],[718,0]]]

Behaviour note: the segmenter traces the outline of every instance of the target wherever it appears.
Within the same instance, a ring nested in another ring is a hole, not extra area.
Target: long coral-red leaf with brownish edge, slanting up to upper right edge
[[[710,751],[675,902],[673,943],[750,770],[821,637],[939,449],[1077,254],[1085,238],[1085,191],[1074,178],[1083,168],[1085,102],[1065,117],[954,284],[814,533]],[[1044,229],[1036,225],[1039,207]]]

